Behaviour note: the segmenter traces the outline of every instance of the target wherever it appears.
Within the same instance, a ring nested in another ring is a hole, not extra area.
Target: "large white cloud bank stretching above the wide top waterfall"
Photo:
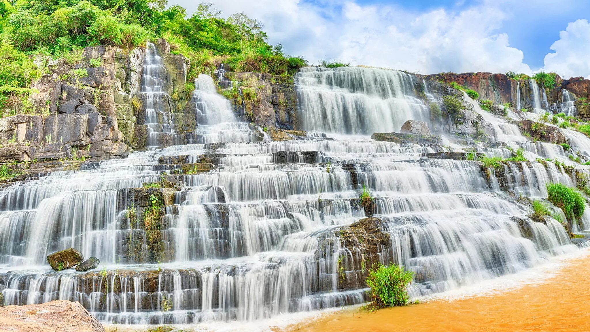
[[[354,1],[208,0],[227,17],[244,11],[266,25],[271,44],[312,63],[340,60],[429,74],[440,71],[513,70],[531,73],[523,53],[497,31],[505,19],[482,2],[459,12],[436,9],[408,12],[391,5]],[[198,4],[171,1],[188,12]]]

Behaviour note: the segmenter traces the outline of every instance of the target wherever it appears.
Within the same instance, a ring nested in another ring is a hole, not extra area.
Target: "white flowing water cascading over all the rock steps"
[[[146,57],[154,57],[146,66],[159,66],[156,55]],[[363,186],[389,239],[375,247],[375,257],[416,273],[411,297],[526,271],[578,250],[556,220],[530,220],[530,209],[476,162],[425,158],[447,151],[435,144],[342,136],[397,131],[407,119],[430,122],[414,81],[394,70],[304,68],[296,76],[304,128],[340,135],[274,142],[263,129],[237,122],[211,77],[200,75],[192,99],[198,143],[39,174],[0,191],[4,304],[80,301],[99,320],[117,324],[253,321],[360,304],[365,261],[359,244],[343,234],[366,217],[358,204]],[[158,81],[145,86],[158,90]],[[153,105],[161,95],[151,95]],[[527,141],[466,98],[499,141]],[[152,257],[150,235],[130,217],[133,188],[178,173],[182,165],[168,160],[179,156],[217,167],[173,175],[181,185]],[[547,165],[506,166],[510,190],[544,197],[549,181],[571,184],[562,167]],[[45,256],[69,247],[99,258],[99,269],[49,269]]]

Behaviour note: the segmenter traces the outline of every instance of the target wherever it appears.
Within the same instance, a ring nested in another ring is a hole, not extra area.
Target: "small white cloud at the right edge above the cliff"
[[[578,19],[559,32],[559,40],[550,47],[554,53],[545,56],[545,71],[555,71],[564,78],[590,77],[590,24]]]

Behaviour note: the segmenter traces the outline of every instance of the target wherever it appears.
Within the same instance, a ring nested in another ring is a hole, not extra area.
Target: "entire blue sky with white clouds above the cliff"
[[[590,77],[586,0],[207,0],[244,12],[268,43],[309,63],[343,61],[413,73],[508,70]],[[169,0],[189,15],[199,1]]]

